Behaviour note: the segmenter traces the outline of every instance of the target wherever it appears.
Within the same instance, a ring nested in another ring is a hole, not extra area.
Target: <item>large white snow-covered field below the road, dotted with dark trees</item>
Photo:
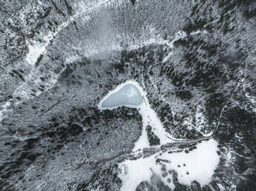
[[[123,181],[121,191],[135,190],[142,181],[150,182],[153,174],[161,177],[166,186],[174,189],[172,170],[176,171],[179,183],[190,185],[196,180],[201,186],[207,185],[219,163],[217,141],[210,139],[196,147],[189,153],[160,152],[147,158],[126,160],[120,164],[119,177]],[[157,163],[157,159],[165,162]]]

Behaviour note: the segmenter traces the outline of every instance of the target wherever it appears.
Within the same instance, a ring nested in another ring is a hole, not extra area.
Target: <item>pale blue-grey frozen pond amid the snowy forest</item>
[[[102,109],[116,108],[118,106],[140,106],[143,102],[142,94],[138,88],[131,84],[125,84],[108,94],[100,103]]]

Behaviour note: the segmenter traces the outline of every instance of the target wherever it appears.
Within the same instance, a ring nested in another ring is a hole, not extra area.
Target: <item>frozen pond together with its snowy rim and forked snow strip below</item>
[[[135,143],[134,151],[149,147],[146,126],[152,126],[152,132],[160,139],[160,144],[170,142],[169,133],[163,128],[157,114],[150,107],[146,95],[147,93],[137,82],[128,80],[108,92],[98,105],[99,109],[115,109],[119,106],[138,109],[138,112],[142,115],[143,128],[142,136]]]

